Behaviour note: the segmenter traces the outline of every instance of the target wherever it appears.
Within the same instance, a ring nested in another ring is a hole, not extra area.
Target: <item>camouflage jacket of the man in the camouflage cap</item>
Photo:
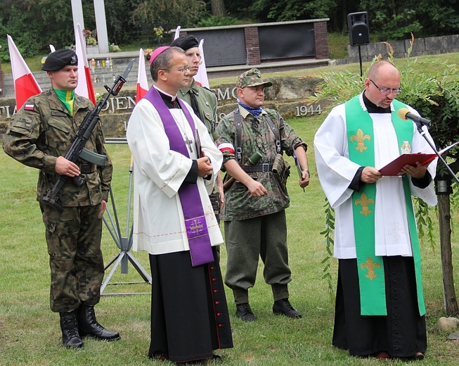
[[[254,118],[245,108],[239,107],[239,111],[242,118],[242,136],[240,138],[242,161],[239,162],[240,165],[247,163],[247,159],[256,151],[263,156],[258,164],[272,164],[274,162],[276,157],[276,137],[266,121],[266,115],[269,115],[269,118],[278,128],[280,144],[287,155],[292,156],[293,149],[298,146],[304,146],[304,149],[307,149],[306,144],[297,137],[292,127],[280,117],[277,111],[264,109],[258,118]],[[216,131],[219,134],[217,145],[232,144],[236,146],[237,132],[234,112],[229,113],[220,120]],[[224,151],[224,163],[234,158],[234,153]],[[272,171],[250,172],[248,174],[263,184],[268,194],[258,198],[252,197],[252,194],[244,184],[235,181],[225,193],[225,204],[221,214],[222,220],[247,220],[252,217],[276,213],[290,205],[290,198],[280,188],[280,184]]]

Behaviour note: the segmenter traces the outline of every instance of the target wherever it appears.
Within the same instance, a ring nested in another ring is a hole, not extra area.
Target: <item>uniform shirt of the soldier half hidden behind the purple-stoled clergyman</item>
[[[180,89],[179,96],[180,99],[183,99],[188,103],[190,106],[191,104],[191,97],[190,93],[193,93],[196,96],[196,100],[198,101],[198,108],[199,108],[199,119],[204,122],[205,126],[207,127],[207,131],[212,136],[212,139],[215,141],[218,137],[216,135],[216,96],[212,93],[209,89],[205,87],[200,87],[196,84],[196,81],[193,80],[193,84],[191,87],[186,87]]]

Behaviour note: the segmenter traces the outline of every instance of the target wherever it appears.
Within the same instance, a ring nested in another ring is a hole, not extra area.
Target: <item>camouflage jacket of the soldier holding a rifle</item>
[[[65,156],[86,113],[94,108],[89,99],[77,96],[73,117],[50,89],[28,99],[13,115],[4,135],[4,151],[20,163],[40,170],[37,184],[37,201],[53,187],[58,179],[55,172],[58,156]],[[105,155],[105,167],[96,167],[84,174],[85,184],[77,187],[67,179],[63,187],[63,206],[94,206],[108,200],[112,179],[112,163],[103,146],[100,123],[86,142],[86,149]]]

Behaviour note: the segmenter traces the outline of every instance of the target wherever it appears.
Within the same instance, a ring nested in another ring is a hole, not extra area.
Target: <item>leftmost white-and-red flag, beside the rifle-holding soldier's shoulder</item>
[[[19,110],[27,99],[40,94],[41,88],[32,72],[30,72],[30,68],[25,63],[24,58],[19,53],[18,48],[13,42],[13,38],[9,34],[6,37],[8,38],[11,71],[13,72],[16,110]]]

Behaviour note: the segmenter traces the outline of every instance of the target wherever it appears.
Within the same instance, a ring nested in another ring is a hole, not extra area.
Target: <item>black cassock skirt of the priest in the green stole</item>
[[[383,257],[387,315],[360,313],[356,259],[340,259],[333,346],[350,355],[387,351],[410,357],[427,349],[425,316],[419,315],[413,257]]]

